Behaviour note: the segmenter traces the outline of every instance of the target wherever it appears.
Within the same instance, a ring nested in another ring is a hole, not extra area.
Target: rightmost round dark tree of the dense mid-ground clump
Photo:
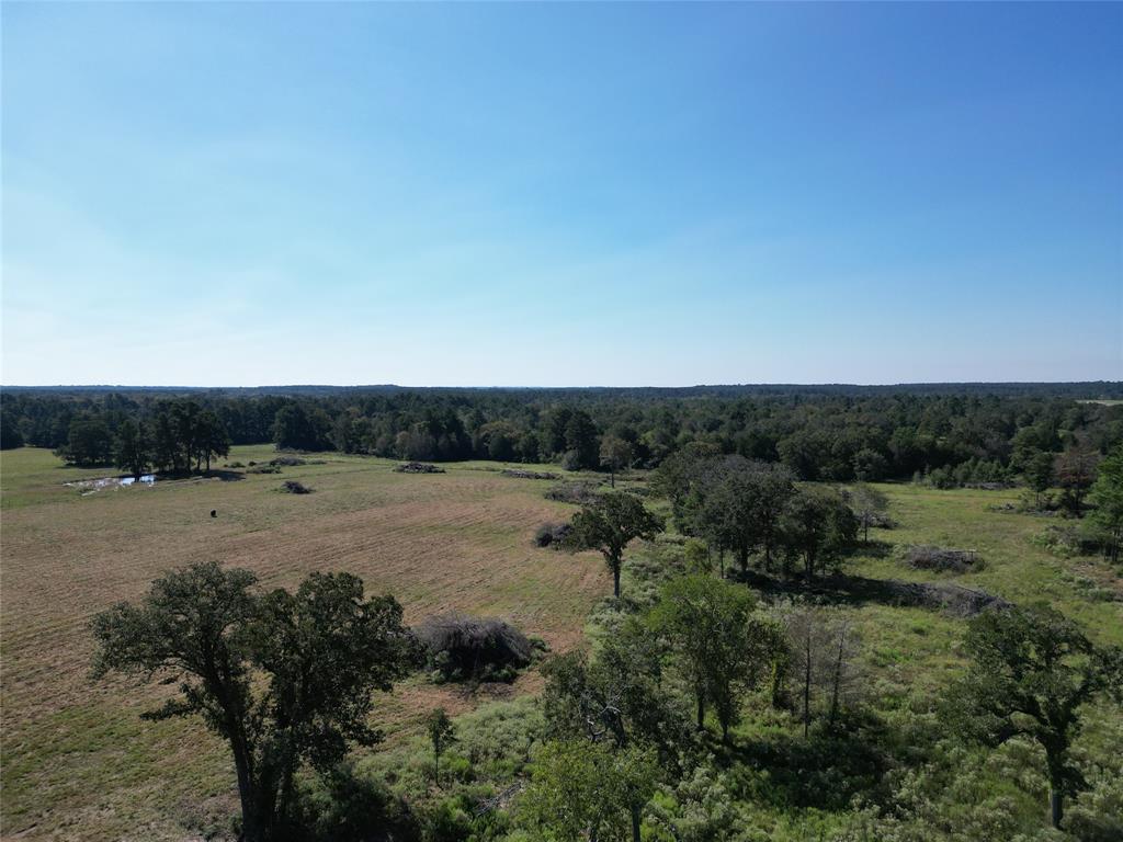
[[[788,551],[803,559],[806,585],[816,569],[838,560],[858,537],[858,519],[831,488],[801,488],[788,501],[782,528]]]

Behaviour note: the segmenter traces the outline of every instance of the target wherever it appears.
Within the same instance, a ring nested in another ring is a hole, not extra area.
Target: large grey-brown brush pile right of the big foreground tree
[[[429,668],[444,680],[512,680],[530,663],[533,646],[510,623],[491,617],[440,614],[426,620],[417,637]]]

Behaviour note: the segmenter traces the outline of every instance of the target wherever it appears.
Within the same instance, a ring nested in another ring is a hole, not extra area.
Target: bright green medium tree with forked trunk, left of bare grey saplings
[[[710,704],[723,740],[738,721],[741,695],[768,674],[782,647],[778,626],[755,617],[755,604],[741,586],[694,575],[667,583],[650,614],[694,695],[699,730]]]

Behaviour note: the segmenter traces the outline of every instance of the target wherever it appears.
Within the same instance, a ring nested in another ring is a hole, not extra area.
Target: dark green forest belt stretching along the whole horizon
[[[111,463],[122,424],[133,421],[145,440],[163,430],[163,458],[173,467],[174,456],[181,469],[189,454],[198,463],[221,451],[194,441],[197,433],[219,445],[555,461],[572,469],[656,467],[684,446],[705,442],[723,454],[783,463],[802,479],[920,473],[968,484],[1008,479],[1033,456],[1105,454],[1123,441],[1123,405],[1089,400],[1111,397],[1123,397],[1123,384],[7,388],[0,441],[52,448],[77,464]],[[202,427],[194,430],[198,419]],[[179,446],[168,438],[176,429]]]

